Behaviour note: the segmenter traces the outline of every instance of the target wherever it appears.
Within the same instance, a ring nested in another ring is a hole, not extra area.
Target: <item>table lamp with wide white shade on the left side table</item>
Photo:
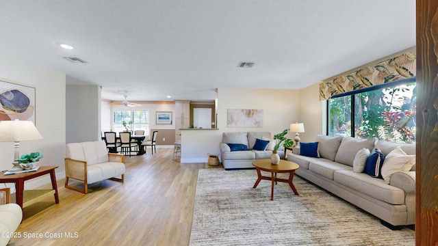
[[[0,142],[14,142],[14,162],[10,172],[16,172],[23,170],[20,167],[18,160],[20,154],[18,148],[20,148],[21,141],[40,140],[43,139],[40,132],[36,129],[34,122],[27,120],[3,120],[0,122]]]

